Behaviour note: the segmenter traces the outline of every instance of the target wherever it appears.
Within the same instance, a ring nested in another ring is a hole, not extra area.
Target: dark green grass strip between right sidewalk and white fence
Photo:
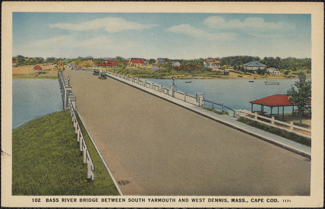
[[[249,126],[253,126],[255,128],[267,131],[269,133],[276,134],[276,135],[281,136],[283,138],[290,139],[292,141],[298,142],[298,143],[306,145],[308,147],[311,147],[311,140],[306,138],[306,137],[300,136],[298,134],[295,134],[295,133],[292,133],[292,132],[289,132],[289,131],[285,131],[285,130],[282,130],[282,129],[279,129],[279,128],[271,127],[271,126],[265,125],[263,123],[259,123],[257,121],[253,121],[253,120],[250,120],[250,119],[244,118],[244,117],[241,117],[237,121],[245,123],[245,124],[247,124]]]

